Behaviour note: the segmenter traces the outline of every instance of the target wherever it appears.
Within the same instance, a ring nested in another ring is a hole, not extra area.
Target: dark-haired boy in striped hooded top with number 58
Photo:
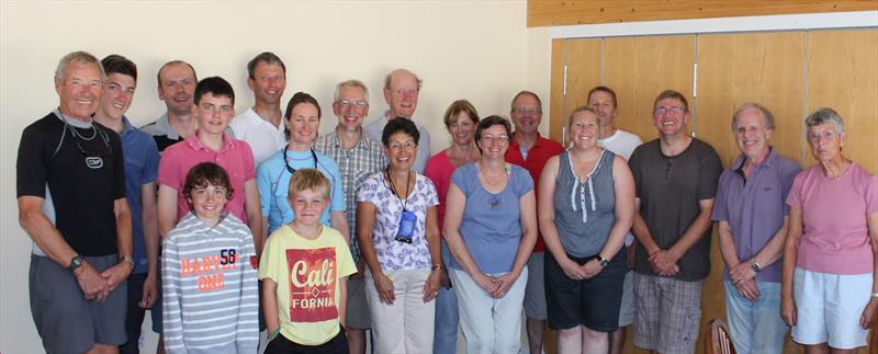
[[[165,238],[161,289],[168,353],[256,353],[259,297],[250,229],[223,213],[234,191],[213,162],[194,165],[183,195],[190,212]]]

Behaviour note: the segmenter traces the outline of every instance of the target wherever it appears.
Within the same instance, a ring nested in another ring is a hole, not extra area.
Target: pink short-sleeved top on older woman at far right
[[[830,180],[817,163],[796,176],[787,204],[802,212],[804,224],[796,266],[830,274],[873,272],[866,215],[878,213],[878,178],[853,163]]]

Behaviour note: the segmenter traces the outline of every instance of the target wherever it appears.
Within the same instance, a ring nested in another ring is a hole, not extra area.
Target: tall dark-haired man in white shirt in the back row
[[[247,141],[259,165],[286,145],[281,113],[286,66],[273,53],[264,52],[247,64],[247,87],[254,91],[254,106],[232,119],[228,126],[236,139]]]

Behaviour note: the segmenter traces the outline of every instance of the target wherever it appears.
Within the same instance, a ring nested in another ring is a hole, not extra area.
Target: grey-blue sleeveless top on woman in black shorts
[[[585,181],[573,173],[570,151],[559,155],[555,179],[555,227],[564,251],[586,258],[600,252],[616,224],[616,193],[612,160],[616,155],[604,150],[595,169]]]

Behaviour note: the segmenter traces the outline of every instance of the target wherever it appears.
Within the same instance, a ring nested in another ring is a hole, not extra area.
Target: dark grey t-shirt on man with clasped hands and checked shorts
[[[637,184],[640,215],[653,240],[667,250],[698,217],[698,202],[716,195],[722,161],[713,147],[699,139],[693,139],[686,150],[673,157],[662,153],[655,139],[638,147],[628,163]],[[710,273],[711,229],[679,259],[675,279],[700,281]],[[646,249],[638,243],[634,271],[653,275],[648,259]]]

